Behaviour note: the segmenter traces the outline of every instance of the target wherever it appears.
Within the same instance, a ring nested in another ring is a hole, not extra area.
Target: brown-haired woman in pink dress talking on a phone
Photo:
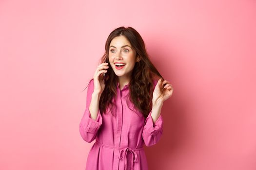
[[[85,141],[96,139],[86,170],[148,170],[143,145],[159,141],[161,108],[173,87],[151,63],[143,39],[132,27],[111,32],[105,50],[89,82],[79,124]]]

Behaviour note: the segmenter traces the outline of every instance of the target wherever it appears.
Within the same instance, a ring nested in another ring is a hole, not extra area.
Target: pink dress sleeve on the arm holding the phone
[[[89,111],[89,106],[92,99],[92,93],[94,91],[94,81],[91,80],[88,89],[87,89],[87,97],[86,97],[86,108],[82,119],[79,123],[79,132],[82,136],[83,140],[86,142],[92,142],[97,136],[97,132],[102,124],[102,116],[98,110],[97,119],[94,120],[91,118],[91,113]]]

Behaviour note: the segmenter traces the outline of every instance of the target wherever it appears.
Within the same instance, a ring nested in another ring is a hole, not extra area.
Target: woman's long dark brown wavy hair
[[[150,61],[142,37],[132,27],[118,27],[109,34],[105,44],[105,53],[100,59],[100,64],[105,62],[109,63],[109,45],[113,38],[120,35],[125,36],[129,40],[132,48],[134,48],[137,53],[137,57],[140,57],[140,60],[136,62],[132,71],[132,77],[129,83],[129,99],[134,104],[136,109],[138,109],[143,114],[144,118],[146,118],[152,110],[152,97],[155,88],[153,81],[158,81],[159,77],[162,80],[164,80],[164,78]],[[108,68],[106,76],[107,78],[105,82],[105,88],[99,99],[99,111],[100,113],[106,113],[106,108],[111,106],[110,111],[113,114],[112,106],[115,105],[113,99],[116,100],[117,97],[118,76],[115,74],[112,67]],[[93,78],[90,80],[90,82],[91,81],[93,81]],[[161,86],[160,96],[162,96],[164,90],[163,87],[164,85]],[[117,106],[115,108],[117,108]]]

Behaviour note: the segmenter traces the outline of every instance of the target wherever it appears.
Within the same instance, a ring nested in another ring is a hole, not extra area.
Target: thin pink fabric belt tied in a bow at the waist
[[[124,158],[124,166],[125,166],[125,170],[127,170],[127,153],[130,152],[132,153],[132,161],[131,161],[131,170],[133,170],[133,164],[134,162],[138,162],[138,156],[137,156],[137,153],[135,151],[139,151],[139,150],[142,150],[143,147],[141,148],[134,148],[134,149],[131,149],[129,147],[126,147],[126,148],[119,148],[119,147],[115,147],[115,146],[110,146],[110,145],[105,145],[105,144],[102,144],[100,142],[98,142],[96,140],[96,142],[98,145],[100,146],[103,146],[103,147],[106,147],[106,148],[112,148],[112,149],[118,149],[118,150],[121,150],[118,158],[119,159],[122,159]]]

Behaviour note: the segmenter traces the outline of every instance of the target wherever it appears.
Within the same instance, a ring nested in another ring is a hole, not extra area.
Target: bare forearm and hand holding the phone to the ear
[[[94,91],[92,93],[92,100],[89,106],[89,111],[91,114],[91,118],[96,120],[98,117],[98,106],[99,106],[99,99],[100,96],[105,88],[104,82],[103,82],[103,73],[107,72],[108,63],[102,63],[98,65],[95,74],[93,76],[94,81]]]

